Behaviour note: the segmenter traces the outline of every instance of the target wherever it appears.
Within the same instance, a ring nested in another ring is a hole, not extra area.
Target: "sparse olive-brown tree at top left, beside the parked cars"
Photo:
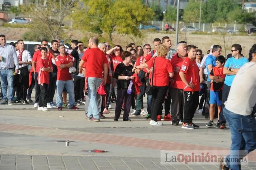
[[[72,13],[75,3],[75,0],[38,0],[37,4],[21,5],[20,11],[33,19],[34,31],[44,32],[54,39],[61,35],[64,19]]]

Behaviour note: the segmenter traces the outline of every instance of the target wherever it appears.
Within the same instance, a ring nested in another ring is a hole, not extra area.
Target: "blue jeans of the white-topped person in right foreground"
[[[223,115],[229,123],[231,132],[232,144],[230,146],[230,152],[232,151],[248,151],[251,152],[256,148],[256,121],[252,115],[242,116],[233,113],[223,108]],[[244,153],[242,153],[244,154]],[[226,159],[234,158],[228,155]],[[232,170],[240,170],[241,165],[239,163],[228,164],[227,166]]]

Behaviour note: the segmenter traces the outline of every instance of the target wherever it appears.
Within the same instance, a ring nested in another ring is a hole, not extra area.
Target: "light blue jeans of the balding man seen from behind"
[[[99,109],[97,105],[98,99],[101,99],[101,95],[97,93],[99,85],[101,85],[101,78],[89,77],[87,80],[87,88],[88,88],[88,97],[90,100],[90,104],[88,107],[88,117],[94,117],[95,119],[99,119]],[[101,106],[101,103],[99,104]]]

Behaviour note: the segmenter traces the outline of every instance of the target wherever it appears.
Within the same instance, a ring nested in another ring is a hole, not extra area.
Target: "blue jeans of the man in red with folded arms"
[[[72,80],[62,81],[57,80],[56,81],[57,86],[57,96],[56,96],[56,104],[57,107],[62,107],[62,92],[64,87],[67,89],[68,92],[68,100],[69,100],[69,108],[75,105],[75,93],[74,93],[74,83]]]

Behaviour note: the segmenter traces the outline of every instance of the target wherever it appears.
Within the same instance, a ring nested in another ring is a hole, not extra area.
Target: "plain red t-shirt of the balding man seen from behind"
[[[85,61],[86,77],[102,78],[103,64],[107,64],[106,54],[98,48],[86,50],[82,60]]]

